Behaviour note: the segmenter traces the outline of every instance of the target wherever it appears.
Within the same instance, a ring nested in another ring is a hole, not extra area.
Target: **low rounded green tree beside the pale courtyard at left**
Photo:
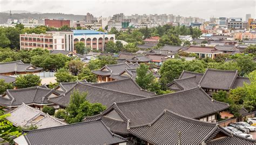
[[[15,86],[17,89],[29,88],[32,86],[38,86],[40,84],[41,84],[40,77],[33,74],[19,75],[15,81]]]

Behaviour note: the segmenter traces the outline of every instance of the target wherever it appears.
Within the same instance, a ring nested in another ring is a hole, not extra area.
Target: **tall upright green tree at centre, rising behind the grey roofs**
[[[137,77],[136,83],[144,90],[150,88],[150,85],[154,82],[154,76],[152,73],[149,73],[149,66],[144,63],[141,63],[139,68],[136,69]]]

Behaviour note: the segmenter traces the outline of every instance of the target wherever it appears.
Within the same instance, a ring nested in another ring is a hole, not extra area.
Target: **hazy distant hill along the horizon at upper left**
[[[10,18],[9,12],[0,12],[0,24],[4,24]],[[23,18],[34,18],[34,19],[67,19],[67,20],[83,20],[84,15],[75,14],[64,14],[64,13],[13,13],[12,19],[23,19]]]

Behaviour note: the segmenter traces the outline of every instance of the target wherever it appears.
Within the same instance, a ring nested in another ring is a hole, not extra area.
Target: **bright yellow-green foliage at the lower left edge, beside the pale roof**
[[[6,117],[9,117],[10,115],[11,115],[10,113],[4,114],[3,108],[0,108],[0,121],[1,121],[0,137],[1,137],[1,139],[3,139],[3,141],[1,143],[3,143],[4,141],[13,143],[12,139],[14,139],[14,137],[18,137],[18,136],[22,135],[22,133],[19,131],[19,128],[14,127],[10,121],[5,119]]]

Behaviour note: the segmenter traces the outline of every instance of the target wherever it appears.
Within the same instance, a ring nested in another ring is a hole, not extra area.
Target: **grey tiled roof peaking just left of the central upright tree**
[[[118,81],[104,82],[98,84],[91,84],[99,86],[100,88],[112,89],[120,92],[132,93],[142,96],[156,96],[154,92],[146,91],[140,88],[140,86],[131,78],[120,79]]]

